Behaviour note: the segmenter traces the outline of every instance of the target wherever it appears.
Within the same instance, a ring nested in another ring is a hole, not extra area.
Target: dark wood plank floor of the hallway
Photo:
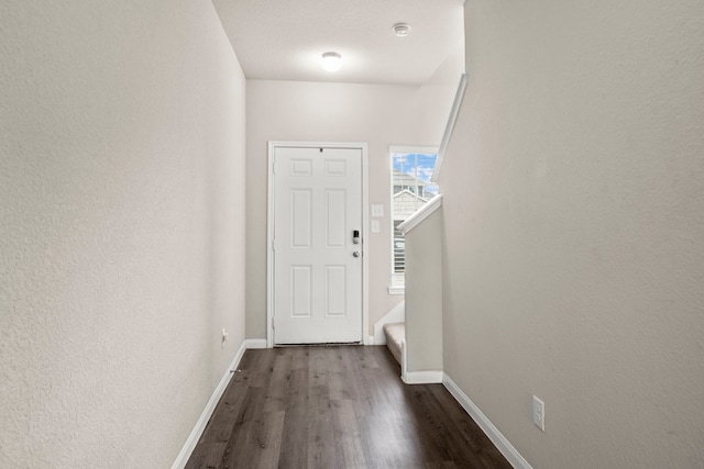
[[[386,347],[248,350],[187,468],[510,468],[442,384]]]

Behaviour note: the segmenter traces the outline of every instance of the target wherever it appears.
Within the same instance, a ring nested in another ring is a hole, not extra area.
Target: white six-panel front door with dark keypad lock
[[[274,147],[274,344],[362,340],[362,148]]]

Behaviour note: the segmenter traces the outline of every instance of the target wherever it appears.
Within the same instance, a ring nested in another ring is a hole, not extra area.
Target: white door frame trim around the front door
[[[270,141],[267,156],[266,203],[266,347],[274,347],[274,152],[277,147],[352,148],[362,150],[362,344],[370,345],[369,335],[369,144],[340,142]]]

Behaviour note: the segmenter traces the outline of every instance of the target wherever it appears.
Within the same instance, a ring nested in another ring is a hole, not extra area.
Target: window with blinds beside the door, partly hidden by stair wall
[[[438,194],[438,186],[430,182],[437,158],[436,148],[392,148],[392,288],[404,286],[406,271],[406,241],[398,225]]]

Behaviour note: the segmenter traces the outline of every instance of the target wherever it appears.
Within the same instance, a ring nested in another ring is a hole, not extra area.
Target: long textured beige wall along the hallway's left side
[[[237,58],[209,1],[4,0],[0,64],[0,467],[169,467],[244,340]]]

